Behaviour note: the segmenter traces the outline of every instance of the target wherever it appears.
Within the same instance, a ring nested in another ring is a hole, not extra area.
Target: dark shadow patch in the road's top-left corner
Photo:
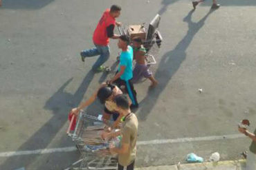
[[[2,0],[2,7],[6,9],[37,10],[47,6],[54,0]]]

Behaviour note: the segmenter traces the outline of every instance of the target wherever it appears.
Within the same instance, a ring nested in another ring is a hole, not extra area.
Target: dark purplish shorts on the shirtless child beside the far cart
[[[134,77],[131,80],[132,83],[137,83],[140,80],[140,78],[142,78],[143,76],[145,78],[149,78],[150,76],[152,76],[152,72],[150,72],[149,66],[145,64],[138,64],[138,63],[136,63],[134,67],[133,74],[134,74]]]

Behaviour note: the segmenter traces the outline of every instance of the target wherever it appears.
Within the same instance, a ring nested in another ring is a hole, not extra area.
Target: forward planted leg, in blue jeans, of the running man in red
[[[96,47],[98,48],[98,51],[100,52],[100,57],[93,65],[93,71],[98,71],[100,66],[109,59],[109,55],[110,55],[109,45],[107,45],[107,46],[96,45]],[[99,71],[103,71],[103,70],[99,70]]]

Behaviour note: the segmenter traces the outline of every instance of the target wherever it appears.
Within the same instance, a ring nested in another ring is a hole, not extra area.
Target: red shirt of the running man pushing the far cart
[[[107,36],[107,27],[109,25],[116,25],[116,19],[111,17],[110,9],[107,9],[93,33],[93,43],[104,46],[109,44],[109,37]]]

